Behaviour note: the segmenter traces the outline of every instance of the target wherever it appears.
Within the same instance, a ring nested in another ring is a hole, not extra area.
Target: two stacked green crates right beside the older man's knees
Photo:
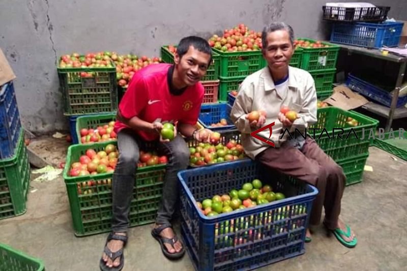
[[[346,185],[362,182],[369,146],[373,143],[369,132],[370,129],[376,130],[379,121],[337,107],[318,108],[317,119],[308,130],[308,136],[313,137],[319,147],[342,167]]]

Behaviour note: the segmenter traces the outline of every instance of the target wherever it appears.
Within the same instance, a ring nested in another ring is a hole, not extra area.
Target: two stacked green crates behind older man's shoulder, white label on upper
[[[298,39],[316,43],[312,39]],[[302,49],[300,68],[308,71],[315,81],[316,97],[324,100],[332,95],[333,83],[336,75],[336,62],[340,47],[328,42],[321,42],[321,46],[300,47]]]

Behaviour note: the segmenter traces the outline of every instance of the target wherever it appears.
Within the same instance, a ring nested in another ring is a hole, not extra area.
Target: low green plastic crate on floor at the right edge
[[[383,139],[375,135],[373,145],[407,161],[407,131],[402,135],[400,132],[402,131],[393,131],[394,139],[389,138],[390,132],[385,133]]]

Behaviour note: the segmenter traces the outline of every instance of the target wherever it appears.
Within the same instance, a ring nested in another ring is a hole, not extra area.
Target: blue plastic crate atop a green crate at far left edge
[[[0,88],[0,159],[14,155],[21,133],[20,114],[13,82]]]

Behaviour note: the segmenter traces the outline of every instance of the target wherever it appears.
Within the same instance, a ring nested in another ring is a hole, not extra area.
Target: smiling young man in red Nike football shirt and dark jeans
[[[177,172],[187,168],[190,155],[181,135],[198,141],[208,140],[200,138],[195,124],[204,93],[199,81],[205,76],[211,61],[212,51],[208,42],[191,36],[180,41],[175,65],[150,65],[134,74],[120,102],[118,121],[114,126],[118,135],[119,161],[113,173],[112,232],[100,260],[102,270],[123,268],[136,164],[139,148],[146,142],[156,143],[168,157],[162,202],[152,235],[168,258],[184,255],[185,249],[169,221],[179,197]],[[175,124],[175,138],[171,141],[163,140],[160,135],[165,122]]]

